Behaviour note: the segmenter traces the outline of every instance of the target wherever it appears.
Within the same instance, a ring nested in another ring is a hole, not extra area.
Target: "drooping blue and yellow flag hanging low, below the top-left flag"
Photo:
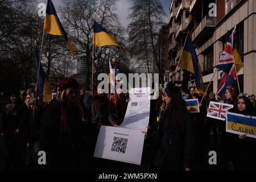
[[[36,75],[38,75],[39,61],[38,61],[38,55],[35,51],[34,51],[34,56],[35,56],[34,62],[35,62]],[[49,102],[52,100],[51,85],[49,84],[49,81],[46,77],[46,74],[44,73],[44,69],[41,63],[40,63],[40,71],[39,71],[39,77],[38,77],[38,95],[39,95],[40,101]]]

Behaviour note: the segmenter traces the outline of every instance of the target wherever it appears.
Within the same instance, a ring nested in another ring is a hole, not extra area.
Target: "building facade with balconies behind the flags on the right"
[[[174,3],[171,1],[170,11],[175,10]],[[172,15],[172,14],[171,14]],[[183,14],[184,15],[184,14]],[[185,14],[187,15],[187,14]],[[187,16],[185,16],[187,18]],[[176,19],[170,16],[170,30],[175,28]],[[194,43],[197,57],[203,74],[205,88],[216,71],[216,65],[220,59],[221,53],[226,43],[226,34],[229,30],[236,27],[234,36],[234,47],[237,48],[243,61],[243,69],[238,72],[238,81],[241,92],[249,94],[256,93],[256,1],[253,0],[190,0],[189,1],[189,23],[186,31],[191,36]],[[170,34],[171,31],[170,31]],[[170,78],[173,78],[177,61],[180,56],[179,41],[176,32],[176,47],[171,46],[169,55]],[[171,39],[171,38],[170,38]],[[171,39],[173,40],[173,39]],[[174,44],[170,41],[170,44]],[[181,44],[181,46],[184,45]],[[176,59],[175,59],[176,54]],[[179,75],[179,74],[178,74]],[[184,75],[187,77],[184,78]],[[189,75],[189,76],[188,76]],[[218,81],[221,71],[213,77],[209,92],[217,92]],[[182,74],[176,77],[176,80],[182,80],[189,85],[193,80],[191,74]]]

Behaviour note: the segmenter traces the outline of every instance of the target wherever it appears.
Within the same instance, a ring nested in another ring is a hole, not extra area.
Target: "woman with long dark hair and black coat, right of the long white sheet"
[[[172,82],[167,84],[164,100],[166,109],[155,132],[152,169],[189,171],[195,143],[191,114],[180,88]]]

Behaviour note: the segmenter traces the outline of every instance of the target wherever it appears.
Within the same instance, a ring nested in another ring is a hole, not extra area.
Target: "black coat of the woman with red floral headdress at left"
[[[53,168],[73,168],[76,166],[77,164],[75,163],[78,162],[78,159],[76,159],[77,152],[84,147],[82,141],[82,119],[78,114],[78,108],[69,108],[67,115],[70,135],[65,134],[62,139],[60,138],[60,102],[53,100],[42,117],[39,130],[39,146],[40,150],[46,152],[49,165]]]

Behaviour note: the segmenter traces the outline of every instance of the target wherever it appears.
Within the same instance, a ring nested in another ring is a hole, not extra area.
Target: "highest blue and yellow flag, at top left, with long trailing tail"
[[[65,41],[68,44],[69,51],[72,53],[73,57],[76,56],[76,52],[73,49],[73,46],[70,42],[70,39],[67,36],[63,26],[60,23],[60,20],[57,16],[55,7],[51,0],[47,2],[46,8],[46,18],[44,19],[44,31],[48,32],[51,35],[61,35],[64,36]]]

